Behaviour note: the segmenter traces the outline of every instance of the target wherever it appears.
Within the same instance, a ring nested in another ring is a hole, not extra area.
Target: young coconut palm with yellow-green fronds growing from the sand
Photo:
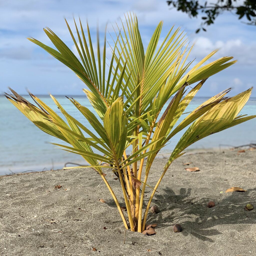
[[[86,35],[80,19],[79,25],[74,21],[76,35],[66,21],[79,58],[49,28],[44,31],[57,50],[29,38],[73,70],[86,84],[89,90],[83,91],[99,118],[75,99],[69,100],[88,120],[97,135],[90,127],[69,115],[52,95],[51,98],[67,122],[33,94],[30,96],[36,104],[31,104],[12,89],[13,94],[6,94],[6,97],[39,129],[70,144],[53,143],[68,152],[81,155],[104,180],[125,228],[142,232],[145,230],[152,198],[170,164],[184,154],[183,150],[201,138],[250,120],[255,115],[238,116],[250,97],[251,89],[231,98],[225,97],[230,91],[227,89],[198,106],[175,126],[207,78],[236,61],[230,61],[232,57],[223,57],[209,62],[216,53],[213,51],[190,68],[192,61],[188,62],[187,58],[191,48],[186,45],[187,39],[179,32],[180,28],[175,31],[171,28],[160,43],[163,24],[160,22],[144,50],[136,16],[128,14],[125,19],[121,27],[114,29],[116,37],[112,37],[113,45],[109,44],[112,50],[109,61],[106,58],[106,33],[102,52],[97,33],[95,50],[89,27],[87,25]],[[197,84],[190,89],[194,83]],[[186,89],[189,89],[187,94]],[[165,103],[172,96],[161,115]],[[150,187],[147,178],[157,153],[187,126],[157,184]],[[130,147],[132,150],[127,155]],[[104,176],[102,163],[105,163],[104,168],[109,168],[119,178],[127,216],[106,179],[108,176]],[[152,194],[146,209],[143,209],[146,186],[152,189]]]

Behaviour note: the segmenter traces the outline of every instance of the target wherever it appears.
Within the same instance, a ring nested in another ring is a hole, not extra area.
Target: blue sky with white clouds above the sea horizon
[[[212,60],[233,56],[238,62],[212,76],[198,93],[211,96],[228,87],[237,94],[255,86],[256,26],[238,21],[231,13],[222,14],[207,32],[195,34],[200,19],[190,19],[186,14],[170,10],[165,0],[142,1],[63,1],[63,0],[13,0],[0,2],[0,93],[12,87],[18,93],[28,88],[34,94],[78,95],[83,94],[84,84],[75,74],[44,50],[29,42],[34,37],[45,44],[50,41],[44,31],[48,26],[68,46],[73,47],[64,17],[68,21],[80,16],[83,23],[89,21],[93,36],[97,22],[104,31],[106,22],[119,22],[125,12],[135,12],[145,45],[160,20],[163,20],[163,37],[174,24],[181,26],[192,43],[190,58],[200,60],[210,51],[220,48]],[[252,96],[256,97],[256,89]]]

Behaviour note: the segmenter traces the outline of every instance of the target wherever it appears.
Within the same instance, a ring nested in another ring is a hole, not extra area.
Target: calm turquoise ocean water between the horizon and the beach
[[[38,97],[56,110],[57,113],[60,112],[48,95]],[[30,97],[25,98],[30,100]],[[56,98],[69,114],[87,127],[90,127],[81,113],[65,96],[57,96]],[[74,98],[95,113],[85,96],[76,96]],[[195,97],[185,112],[194,110],[207,99],[205,97]],[[67,162],[86,164],[81,156],[65,152],[50,144],[51,142],[58,143],[60,140],[39,130],[4,96],[0,96],[0,110],[0,175],[11,172],[19,173],[26,170],[40,171],[43,169],[62,168]],[[250,98],[240,114],[255,115],[256,98]],[[185,116],[186,114],[182,115],[182,118],[185,118]],[[212,148],[220,145],[223,147],[223,145],[238,146],[256,143],[255,129],[256,119],[252,119],[228,130],[210,135],[191,145],[190,148]],[[183,133],[184,131],[181,131],[176,134],[172,141],[161,151],[165,153],[171,152]]]

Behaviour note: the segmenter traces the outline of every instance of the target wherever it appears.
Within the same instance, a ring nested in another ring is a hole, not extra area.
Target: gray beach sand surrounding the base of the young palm
[[[256,151],[237,152],[187,154],[177,159],[152,201],[161,212],[148,215],[147,223],[157,223],[157,234],[127,231],[125,244],[118,210],[93,170],[2,177],[0,255],[256,255],[256,209],[243,209],[249,202],[256,208]],[[159,178],[164,160],[155,161],[150,185]],[[183,166],[186,162],[193,164]],[[200,171],[184,170],[193,166]],[[118,180],[112,179],[109,169],[105,172],[115,193],[121,195]],[[57,184],[62,186],[59,190],[54,189]],[[247,192],[225,193],[232,186]],[[207,208],[209,200],[216,207]],[[173,232],[175,223],[182,232]]]

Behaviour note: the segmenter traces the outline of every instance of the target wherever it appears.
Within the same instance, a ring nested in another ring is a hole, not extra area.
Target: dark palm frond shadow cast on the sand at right
[[[212,198],[200,198],[191,194],[191,189],[181,188],[179,194],[166,187],[161,194],[155,194],[155,204],[161,209],[159,214],[148,214],[147,223],[157,223],[158,227],[170,227],[179,223],[184,236],[192,235],[203,241],[213,240],[211,236],[221,234],[216,228],[225,224],[255,224],[256,212],[246,211],[245,205],[256,204],[256,188],[247,192],[233,192],[214,200],[215,207],[207,208]],[[214,228],[215,227],[215,228]]]

